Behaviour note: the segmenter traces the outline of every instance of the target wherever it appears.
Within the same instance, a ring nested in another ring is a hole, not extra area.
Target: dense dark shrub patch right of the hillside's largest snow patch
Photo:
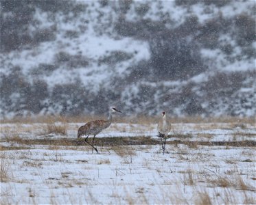
[[[162,80],[187,79],[206,67],[198,52],[198,44],[185,38],[159,36],[150,42],[150,67]]]

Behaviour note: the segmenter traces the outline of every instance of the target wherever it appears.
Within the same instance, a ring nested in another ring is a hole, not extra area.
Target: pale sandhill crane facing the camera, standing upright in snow
[[[161,120],[159,120],[159,124],[157,125],[157,130],[159,131],[159,137],[161,138],[163,154],[165,154],[166,137],[171,130],[171,124],[166,120],[165,112],[162,112],[162,118]],[[163,141],[163,139],[165,141]]]

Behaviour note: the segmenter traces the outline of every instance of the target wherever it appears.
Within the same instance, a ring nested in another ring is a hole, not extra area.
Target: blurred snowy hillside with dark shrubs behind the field
[[[1,1],[1,116],[253,116],[255,1]]]

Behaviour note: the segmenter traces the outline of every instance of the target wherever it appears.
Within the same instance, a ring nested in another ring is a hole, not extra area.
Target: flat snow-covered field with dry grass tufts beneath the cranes
[[[1,124],[1,204],[256,204],[255,124]],[[91,138],[90,138],[91,140]]]

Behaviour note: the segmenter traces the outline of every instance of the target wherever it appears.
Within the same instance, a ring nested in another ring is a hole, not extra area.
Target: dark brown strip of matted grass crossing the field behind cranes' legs
[[[91,138],[89,140],[92,140]],[[1,146],[0,150],[12,150],[12,149],[19,149],[19,147],[16,146],[16,143],[19,143],[27,148],[33,148],[33,145],[49,145],[49,146],[65,146],[65,148],[69,149],[68,146],[72,146],[72,150],[76,149],[75,147],[84,147],[87,148],[88,145],[84,141],[84,139],[72,139],[72,138],[65,138],[65,137],[59,137],[58,139],[51,139],[49,137],[40,138],[40,139],[25,139],[21,138],[19,136],[9,137],[7,139],[3,139],[2,141],[7,141],[8,143],[11,143],[13,148],[6,148]],[[225,146],[225,148],[230,148],[229,146],[235,146],[235,147],[255,147],[256,142],[255,141],[167,141],[167,145],[174,145],[174,147],[178,148],[178,144],[185,144],[189,148],[198,148],[198,146]],[[152,146],[152,145],[161,145],[161,142],[159,139],[152,139],[150,137],[100,137],[95,140],[95,146],[100,146],[107,148],[107,150],[117,149],[115,147],[122,148],[123,146]],[[84,149],[82,148],[82,149]],[[52,147],[51,149],[62,149],[58,147]],[[79,149],[79,148],[78,148]],[[125,149],[124,149],[125,150]],[[184,149],[176,149],[176,154],[189,154],[189,150]],[[120,150],[120,152],[123,152]]]

